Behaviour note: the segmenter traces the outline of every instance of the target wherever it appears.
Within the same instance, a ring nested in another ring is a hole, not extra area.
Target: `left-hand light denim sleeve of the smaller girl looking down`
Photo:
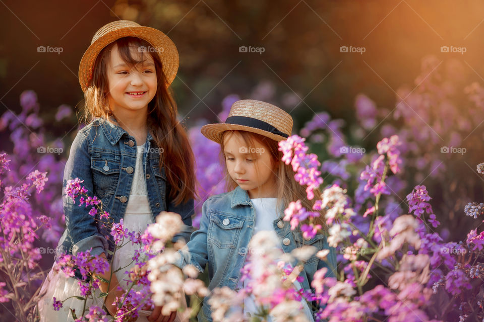
[[[200,220],[200,229],[192,233],[190,241],[181,250],[178,251],[180,255],[174,265],[183,268],[186,265],[195,266],[200,272],[205,270],[208,263],[207,253],[207,229],[209,218],[207,215],[207,201],[202,206],[202,219]]]

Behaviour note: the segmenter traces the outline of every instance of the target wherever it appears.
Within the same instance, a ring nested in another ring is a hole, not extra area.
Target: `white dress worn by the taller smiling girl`
[[[144,146],[145,144],[137,146],[138,150],[136,155],[133,185],[131,186],[131,193],[128,200],[128,205],[126,207],[126,213],[123,218],[125,228],[128,228],[131,231],[138,231],[140,233],[143,233],[146,227],[153,223],[142,162]],[[125,239],[125,243],[126,241],[127,240]],[[139,250],[140,246],[133,246],[129,242],[122,248],[118,248],[116,250],[116,253],[111,261],[113,270],[118,269],[119,267],[128,266],[124,270],[115,272],[119,285],[124,289],[126,289],[126,282],[123,282],[123,280],[129,279],[125,272],[129,271],[135,266],[135,263],[132,260],[132,257],[135,255],[135,249]],[[140,260],[143,260],[141,256],[142,255],[140,255]],[[99,298],[99,290],[96,291],[97,292],[93,294],[94,299],[91,300],[89,298],[87,300],[87,310],[85,314],[89,312],[88,308],[91,305],[102,307],[104,298]],[[46,292],[45,295],[43,295],[38,302],[41,322],[74,321],[69,307],[74,308],[78,317],[80,316],[84,306],[83,300],[70,298],[63,303],[63,307],[61,307],[61,309],[58,311],[55,311],[52,306],[53,297],[55,297],[56,300],[64,300],[70,296],[81,295],[77,279],[74,277],[66,277],[62,271],[56,273],[51,269],[41,287],[40,294],[43,294],[44,292]],[[137,322],[148,322],[146,317],[146,315],[142,315],[142,312],[140,312]]]

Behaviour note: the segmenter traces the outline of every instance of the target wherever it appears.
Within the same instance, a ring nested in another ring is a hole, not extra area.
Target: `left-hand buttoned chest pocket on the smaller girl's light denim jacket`
[[[244,220],[229,213],[212,210],[208,226],[208,240],[218,248],[234,248],[244,225]]]

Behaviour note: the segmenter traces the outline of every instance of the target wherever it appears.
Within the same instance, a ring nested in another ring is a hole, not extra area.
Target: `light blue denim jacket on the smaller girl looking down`
[[[317,250],[330,250],[327,261],[314,255],[303,263],[304,270],[299,275],[304,278],[302,287],[310,290],[314,273],[323,267],[328,268],[326,276],[335,277],[336,253],[334,248],[329,247],[326,236],[317,234],[306,240],[300,233],[293,233],[289,222],[282,220],[283,216],[281,209],[279,219],[273,221],[273,227],[285,253],[297,248],[296,243],[298,247],[311,245]],[[191,264],[203,272],[208,263],[208,288],[213,290],[228,286],[235,290],[248,253],[254,223],[255,211],[246,190],[237,187],[231,192],[210,197],[202,207],[200,229],[193,232],[186,247],[178,251],[180,256],[174,265],[183,268]],[[294,266],[297,262],[292,264]],[[212,311],[207,301],[208,297],[205,297],[198,314],[199,322],[212,321]]]

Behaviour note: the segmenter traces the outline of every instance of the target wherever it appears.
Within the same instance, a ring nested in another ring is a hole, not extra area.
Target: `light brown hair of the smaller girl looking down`
[[[266,148],[271,156],[271,162],[273,166],[273,175],[276,179],[276,197],[277,197],[277,206],[283,206],[284,209],[289,206],[291,201],[300,200],[301,205],[305,207],[308,211],[313,209],[313,205],[315,203],[315,199],[309,200],[308,195],[306,194],[306,189],[301,186],[296,180],[294,179],[294,171],[292,171],[292,166],[286,165],[282,161],[282,151],[279,151],[279,144],[276,140],[273,140],[267,136],[247,132],[247,131],[225,131],[222,133],[222,140],[220,141],[221,147],[221,155],[220,157],[223,158],[223,162],[225,163],[225,156],[224,156],[224,140],[229,138],[234,133],[239,133],[247,144],[247,146],[254,146],[254,141],[258,141],[261,143],[264,148]],[[255,153],[254,153],[255,154]],[[254,155],[255,156],[255,155]],[[257,169],[256,169],[257,170]],[[226,188],[227,191],[231,191],[235,189],[238,184],[233,181],[233,179],[227,173],[227,167],[225,164],[225,178],[226,180]],[[324,231],[327,231],[326,222],[323,219],[323,214],[320,212],[320,217],[314,218],[314,224],[320,224]]]

